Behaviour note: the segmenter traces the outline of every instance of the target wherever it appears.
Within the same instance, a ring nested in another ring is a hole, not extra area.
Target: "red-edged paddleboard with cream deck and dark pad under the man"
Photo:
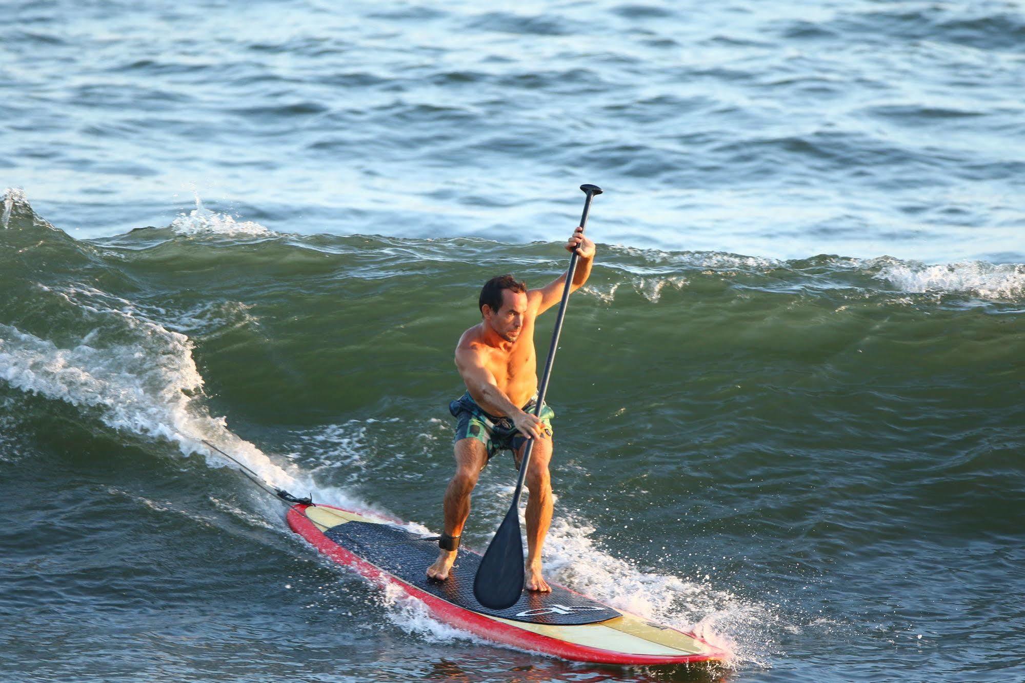
[[[397,586],[436,618],[497,643],[594,664],[681,665],[727,657],[694,634],[555,584],[551,593],[524,591],[511,607],[488,609],[474,597],[479,554],[462,549],[446,580],[429,579],[424,571],[438,557],[437,543],[365,512],[300,503],[287,519],[293,531],[338,564],[381,586]]]

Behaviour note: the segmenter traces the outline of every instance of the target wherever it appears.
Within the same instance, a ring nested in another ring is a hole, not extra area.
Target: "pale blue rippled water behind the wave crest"
[[[1013,2],[15,2],[7,185],[87,235],[300,233],[1021,262]]]

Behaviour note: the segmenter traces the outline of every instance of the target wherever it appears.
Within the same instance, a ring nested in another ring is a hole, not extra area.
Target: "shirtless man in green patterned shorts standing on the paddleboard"
[[[594,243],[577,228],[566,243],[577,252],[578,263],[570,291],[578,289],[590,275]],[[459,547],[459,535],[469,516],[469,494],[481,470],[496,452],[511,450],[517,467],[523,460],[528,439],[534,440],[526,484],[527,566],[530,591],[550,591],[541,575],[541,547],[551,523],[551,418],[555,412],[537,401],[537,354],[534,351],[534,320],[563,296],[566,273],[540,289],[527,289],[511,275],[495,277],[481,289],[478,305],[481,322],[459,338],[455,365],[466,385],[466,393],[449,405],[457,418],[455,476],[445,491],[445,533],[438,543],[438,560],[427,567],[427,576],[448,578]]]

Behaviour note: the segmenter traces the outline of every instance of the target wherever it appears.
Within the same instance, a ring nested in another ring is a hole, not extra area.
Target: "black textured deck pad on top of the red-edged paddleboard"
[[[436,581],[427,578],[424,572],[438,558],[437,540],[421,540],[405,529],[371,522],[345,522],[324,533],[345,550],[403,581],[482,614],[551,626],[596,624],[619,616],[611,607],[560,586],[552,586],[551,593],[524,591],[520,600],[508,609],[488,609],[474,597],[474,575],[481,564],[481,556],[470,550],[460,550],[449,577]]]

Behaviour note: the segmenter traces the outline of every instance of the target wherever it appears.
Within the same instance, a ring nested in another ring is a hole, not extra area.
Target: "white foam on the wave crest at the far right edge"
[[[1025,295],[1025,265],[988,264],[982,260],[927,266],[914,260],[876,258],[876,278],[908,292],[971,292],[987,299]]]

